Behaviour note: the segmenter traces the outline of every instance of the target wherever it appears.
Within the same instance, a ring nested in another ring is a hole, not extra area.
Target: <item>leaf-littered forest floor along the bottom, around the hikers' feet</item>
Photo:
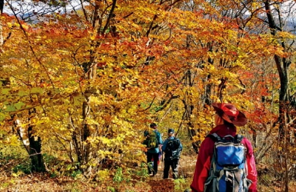
[[[90,182],[73,177],[50,177],[49,174],[13,174],[8,165],[0,164],[0,192],[184,192],[189,189],[192,175],[195,169],[196,157],[183,156],[180,160],[179,176],[183,179],[162,179],[163,165],[158,165],[158,173],[155,177],[147,180],[132,180],[129,183],[114,184],[112,180],[106,181],[105,185],[97,182]],[[6,166],[6,168],[4,167]],[[259,166],[259,192],[284,192],[284,183],[275,181],[270,175],[265,174],[266,166]],[[5,170],[5,171],[3,171]],[[265,170],[264,174],[261,173]],[[106,185],[107,184],[107,185]],[[290,182],[289,192],[296,192],[296,182]]]

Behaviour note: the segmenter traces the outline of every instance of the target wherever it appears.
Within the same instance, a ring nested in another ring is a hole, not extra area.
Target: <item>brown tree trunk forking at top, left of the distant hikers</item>
[[[81,4],[82,5],[82,4]],[[114,9],[116,5],[116,0],[112,0],[112,5],[108,14],[108,17],[105,17],[106,12],[102,13],[102,10],[106,7],[101,7],[100,1],[96,0],[94,4],[94,16],[92,26],[95,33],[91,34],[93,36],[104,35],[108,28],[110,28],[111,19],[114,17]],[[83,9],[83,6],[82,6]],[[85,11],[83,9],[83,11]],[[104,14],[104,15],[103,15]],[[106,23],[103,26],[103,19],[106,18]],[[113,29],[114,32],[114,29]],[[115,33],[115,32],[114,32]],[[96,93],[96,89],[92,84],[95,82],[97,77],[97,54],[96,51],[100,46],[100,40],[94,39],[90,42],[91,49],[89,51],[89,61],[85,64],[85,73],[86,78],[89,80],[90,85],[85,89],[82,95],[85,97],[84,102],[82,103],[82,119],[83,122],[81,126],[74,127],[75,131],[72,134],[72,141],[75,148],[75,153],[77,155],[77,161],[79,162],[79,169],[83,172],[85,176],[89,176],[91,173],[91,165],[89,161],[93,157],[92,147],[88,138],[91,136],[91,130],[89,128],[87,119],[90,118],[91,112],[91,97]]]

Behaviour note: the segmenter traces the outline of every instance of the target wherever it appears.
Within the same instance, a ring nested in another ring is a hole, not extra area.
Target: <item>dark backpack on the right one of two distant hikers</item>
[[[181,141],[174,137],[170,139],[165,149],[165,160],[178,160],[181,155]]]

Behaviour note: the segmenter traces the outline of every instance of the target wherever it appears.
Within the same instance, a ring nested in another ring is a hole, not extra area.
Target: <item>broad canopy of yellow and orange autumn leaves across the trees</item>
[[[35,107],[30,124],[44,139],[56,136],[69,143],[72,134],[87,125],[87,141],[97,157],[128,162],[135,155],[136,161],[142,160],[141,131],[155,120],[163,132],[192,121],[198,128],[193,139],[202,140],[213,126],[203,99],[219,101],[220,91],[224,101],[244,107],[257,121],[252,114],[268,91],[264,86],[277,82],[274,76],[262,80],[268,75],[260,76],[261,63],[274,54],[290,56],[276,39],[295,36],[241,32],[234,19],[221,14],[224,8],[235,8],[237,1],[199,0],[192,10],[184,8],[185,1],[118,1],[102,34],[111,2],[96,1],[102,8],[102,29],[86,19],[93,16],[91,4],[85,13],[53,14],[35,25],[24,24],[27,36],[12,17],[6,18],[4,35],[12,35],[0,48],[0,69],[1,78],[9,78],[10,85],[1,84],[0,124],[12,113],[26,114]],[[257,22],[247,27],[254,29]],[[96,65],[94,79],[87,74],[91,65]],[[178,99],[159,110],[173,96]],[[87,99],[90,110],[83,119]],[[194,106],[189,119],[184,119],[183,101]]]

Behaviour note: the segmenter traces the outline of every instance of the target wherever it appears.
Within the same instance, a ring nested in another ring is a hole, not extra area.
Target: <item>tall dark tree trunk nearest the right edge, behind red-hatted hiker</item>
[[[267,23],[270,30],[270,33],[273,36],[276,36],[278,32],[284,31],[284,22],[283,15],[281,13],[281,6],[284,6],[280,2],[277,6],[274,6],[275,9],[272,10],[271,1],[264,0],[264,8],[267,17]],[[290,9],[292,10],[292,7]],[[276,20],[274,19],[276,18]],[[275,37],[276,38],[276,37]],[[282,39],[277,40],[278,44],[281,45],[285,52],[288,52],[292,45],[295,43],[295,40],[292,41],[284,41]],[[285,192],[289,191],[289,169],[288,169],[288,160],[293,157],[288,156],[288,146],[292,143],[288,144],[288,141],[291,141],[292,129],[288,130],[288,122],[293,121],[293,110],[296,107],[293,105],[292,97],[290,96],[290,85],[289,85],[289,70],[290,65],[292,64],[290,58],[281,57],[279,55],[274,55],[274,61],[277,67],[277,71],[280,77],[280,93],[279,93],[279,144],[282,146],[282,150],[279,150],[278,159],[282,164],[285,170],[285,176],[283,176],[285,180]],[[282,160],[283,159],[283,162]],[[293,166],[293,165],[292,165]]]

